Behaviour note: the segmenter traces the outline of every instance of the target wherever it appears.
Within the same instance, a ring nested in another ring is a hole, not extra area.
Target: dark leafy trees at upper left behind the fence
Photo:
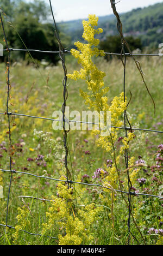
[[[27,47],[28,49],[46,51],[58,50],[58,44],[54,35],[54,25],[47,22],[49,7],[44,1],[36,0],[32,3],[8,1],[7,4],[2,1],[0,7],[4,10],[4,13],[7,13],[7,16],[4,16],[4,27],[9,47],[16,49],[26,49]],[[63,34],[61,38],[66,46],[70,44],[70,38]],[[5,48],[3,39],[1,30],[0,41]],[[29,53],[23,51],[14,52],[12,61],[17,61],[20,58],[30,60],[30,58],[27,58],[28,55]],[[6,54],[4,53],[5,56]],[[52,53],[43,56],[42,53],[32,52],[32,56],[39,61],[45,58],[46,61],[54,64],[59,59],[57,55]]]

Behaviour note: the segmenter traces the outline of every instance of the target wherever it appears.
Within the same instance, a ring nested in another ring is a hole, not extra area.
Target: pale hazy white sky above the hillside
[[[117,0],[116,2],[118,2]],[[49,0],[45,0],[49,3]],[[89,14],[104,16],[112,14],[110,0],[51,0],[55,20],[67,21],[86,18]],[[134,8],[147,7],[148,5],[161,3],[162,0],[121,0],[117,3],[117,11],[125,13]]]

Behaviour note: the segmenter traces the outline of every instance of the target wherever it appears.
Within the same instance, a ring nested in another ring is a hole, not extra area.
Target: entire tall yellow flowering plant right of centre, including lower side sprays
[[[98,114],[100,111],[110,111],[111,126],[121,127],[122,121],[120,120],[120,116],[123,114],[124,110],[127,109],[127,99],[124,99],[124,93],[122,92],[120,96],[114,97],[109,105],[108,97],[105,96],[109,91],[108,87],[104,87],[103,78],[105,73],[98,70],[96,65],[92,62],[93,56],[104,56],[103,50],[98,50],[96,47],[99,44],[99,40],[95,39],[95,35],[103,32],[102,28],[95,28],[98,25],[97,22],[98,17],[96,17],[96,15],[89,15],[89,20],[83,21],[83,38],[87,43],[84,44],[77,41],[74,45],[77,46],[78,50],[71,50],[72,55],[78,59],[78,63],[83,67],[80,71],[74,70],[73,74],[68,74],[67,77],[73,80],[85,80],[88,92],[80,90],[80,94],[85,99],[85,104],[88,105],[88,108],[96,110]],[[129,141],[133,140],[134,133],[129,132],[128,136],[123,138],[123,146],[120,148],[119,155],[115,150],[115,142],[117,140],[116,128],[112,127],[108,136],[102,136],[100,130],[93,130],[93,134],[98,135],[96,140],[97,146],[104,148],[106,152],[111,152],[111,156],[115,158],[115,163],[112,164],[111,168],[108,168],[109,174],[104,178],[104,182],[109,182],[112,188],[117,188],[118,183],[120,183],[120,174],[118,174],[120,156],[129,148]],[[136,176],[135,172],[134,170],[131,179]]]

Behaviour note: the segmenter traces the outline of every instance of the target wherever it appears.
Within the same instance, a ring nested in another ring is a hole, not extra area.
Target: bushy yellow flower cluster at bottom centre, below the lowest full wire
[[[91,204],[83,210],[77,210],[73,204],[73,188],[67,188],[67,185],[61,182],[57,188],[58,197],[52,197],[52,206],[46,213],[48,222],[43,223],[42,234],[58,227],[59,245],[81,245],[84,240],[90,242],[93,239],[92,223],[95,222],[99,209],[95,208],[95,204]]]

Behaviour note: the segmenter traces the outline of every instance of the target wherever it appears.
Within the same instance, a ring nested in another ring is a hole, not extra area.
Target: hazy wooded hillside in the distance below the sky
[[[163,42],[163,2],[134,9],[120,17],[124,35],[140,37],[143,46],[158,47]],[[118,33],[114,15],[99,17],[98,25],[104,30],[101,40]],[[61,31],[71,36],[72,41],[82,39],[82,20],[60,22],[58,26]]]

